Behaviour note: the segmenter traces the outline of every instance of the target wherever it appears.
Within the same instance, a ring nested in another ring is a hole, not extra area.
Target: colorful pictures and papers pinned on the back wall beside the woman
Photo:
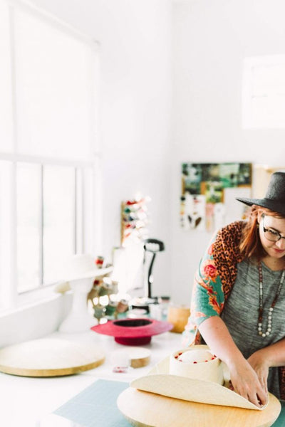
[[[245,215],[236,197],[250,197],[251,163],[182,163],[180,225],[212,231]]]

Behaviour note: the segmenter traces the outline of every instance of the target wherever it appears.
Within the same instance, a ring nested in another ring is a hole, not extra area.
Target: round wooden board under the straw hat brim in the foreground
[[[269,394],[263,411],[197,404],[172,399],[129,387],[120,394],[118,408],[135,427],[269,427],[281,411],[281,404]]]

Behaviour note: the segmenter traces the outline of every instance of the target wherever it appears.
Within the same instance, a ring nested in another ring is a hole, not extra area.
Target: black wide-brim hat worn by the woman
[[[285,215],[285,172],[274,172],[271,175],[264,199],[242,199],[237,197],[237,200],[248,206],[262,206]]]

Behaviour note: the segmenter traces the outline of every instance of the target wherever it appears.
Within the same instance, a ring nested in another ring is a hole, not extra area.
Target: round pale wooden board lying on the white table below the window
[[[66,339],[34,339],[0,349],[0,371],[19,376],[78,374],[104,360],[97,344]]]

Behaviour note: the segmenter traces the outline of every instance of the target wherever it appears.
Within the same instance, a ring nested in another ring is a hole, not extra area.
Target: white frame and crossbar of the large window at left
[[[45,11],[41,11],[30,4],[21,0],[6,0],[9,4],[9,16],[11,23],[11,96],[12,96],[12,121],[13,121],[13,150],[12,152],[0,152],[0,160],[6,160],[12,164],[11,172],[11,196],[9,200],[9,211],[11,213],[11,244],[9,247],[9,260],[10,260],[10,273],[9,283],[3,285],[4,278],[1,277],[1,262],[0,262],[0,280],[2,285],[0,286],[0,297],[4,301],[3,307],[0,307],[1,312],[7,310],[15,310],[22,305],[30,304],[34,300],[38,300],[39,292],[42,295],[46,295],[46,290],[51,286],[41,286],[41,289],[31,290],[24,292],[26,295],[19,295],[16,290],[16,164],[18,162],[26,162],[45,165],[56,165],[74,167],[76,174],[78,171],[83,171],[88,168],[91,169],[92,173],[92,199],[87,199],[87,189],[84,181],[84,173],[80,175],[80,179],[76,180],[77,190],[81,194],[81,199],[76,200],[75,215],[76,215],[76,229],[75,241],[76,251],[78,253],[100,253],[102,247],[101,233],[101,221],[102,214],[100,211],[101,206],[101,179],[100,179],[100,167],[101,167],[101,155],[100,155],[100,144],[99,144],[99,132],[98,132],[98,105],[100,99],[100,70],[99,70],[99,44],[92,38],[86,36],[69,24],[60,21],[51,14],[47,14]],[[74,159],[58,158],[46,158],[33,155],[23,155],[17,152],[17,123],[16,123],[16,80],[15,80],[15,60],[14,60],[14,36],[13,36],[13,15],[14,9],[20,8],[36,16],[36,18],[48,23],[49,25],[56,27],[57,29],[64,31],[69,36],[79,39],[84,43],[88,43],[94,53],[94,75],[92,82],[90,81],[90,90],[94,93],[94,103],[92,105],[92,118],[93,118],[93,135],[92,135],[92,147],[91,155],[89,159],[76,161]],[[90,192],[88,193],[90,194]],[[88,209],[86,209],[88,207]],[[43,247],[41,247],[43,251]],[[1,253],[1,251],[0,251]],[[7,278],[5,278],[6,280]],[[54,284],[51,284],[54,285]],[[44,289],[43,289],[44,288]]]

